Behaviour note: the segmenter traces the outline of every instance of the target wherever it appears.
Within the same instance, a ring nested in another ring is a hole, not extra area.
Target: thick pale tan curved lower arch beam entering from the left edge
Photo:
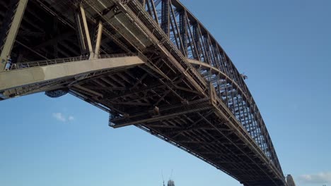
[[[141,58],[138,56],[129,56],[83,60],[50,66],[23,68],[21,70],[8,70],[0,73],[0,91],[60,78],[65,79],[98,70],[128,68],[141,64],[144,64]]]

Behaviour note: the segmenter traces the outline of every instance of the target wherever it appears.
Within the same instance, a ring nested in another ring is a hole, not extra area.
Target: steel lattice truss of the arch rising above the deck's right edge
[[[226,75],[219,77],[217,71],[201,70],[202,75],[213,82],[214,87],[219,90],[219,96],[250,132],[272,163],[279,166],[267,129],[263,128],[265,123],[248,87],[243,82],[242,75],[238,73],[231,59],[214,37],[178,1],[147,0],[141,3],[183,55],[207,63]]]

